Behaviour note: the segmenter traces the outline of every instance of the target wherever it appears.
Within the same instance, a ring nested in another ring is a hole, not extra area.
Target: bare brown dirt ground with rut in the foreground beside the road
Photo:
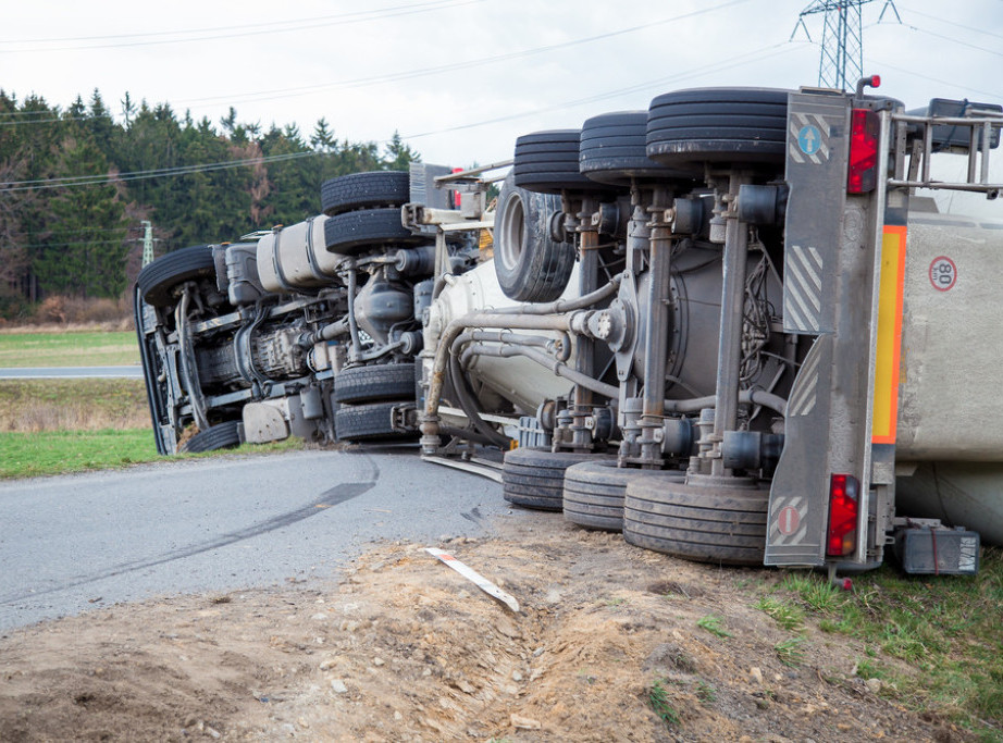
[[[0,740],[965,740],[854,676],[852,641],[753,608],[778,580],[541,517],[381,545],[336,585],[120,605],[0,641]],[[791,662],[788,657],[788,662]]]

